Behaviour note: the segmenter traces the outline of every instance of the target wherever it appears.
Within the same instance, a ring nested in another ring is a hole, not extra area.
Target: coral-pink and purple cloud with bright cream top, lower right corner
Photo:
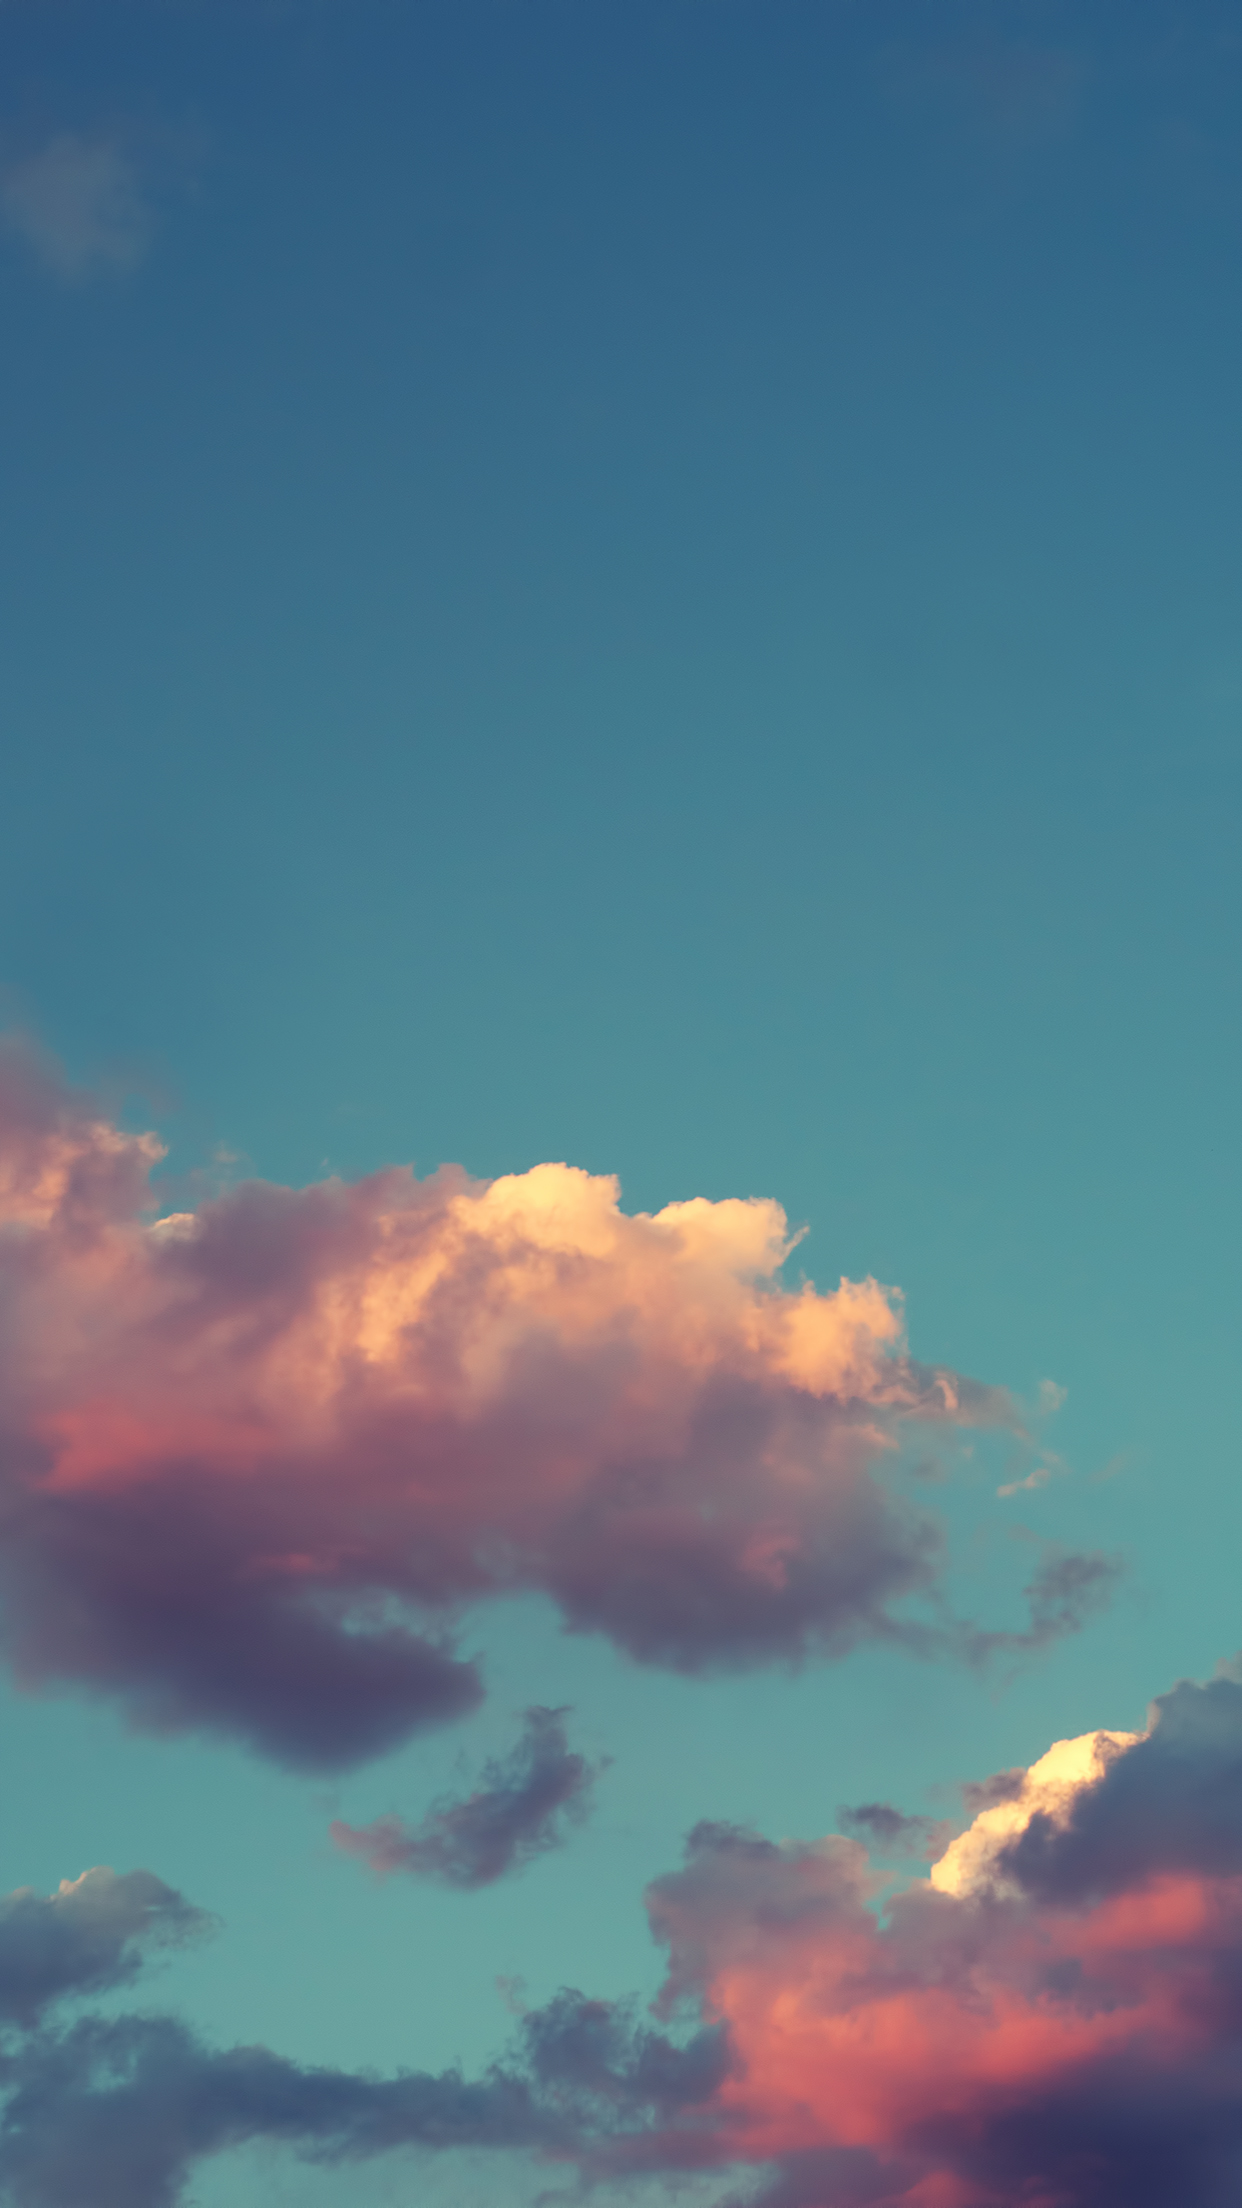
[[[1240,1813],[1222,1678],[1006,1773],[884,1914],[857,1841],[698,1826],[648,1897],[659,2011],[731,2060],[663,2157],[776,2170],[771,2208],[1233,2199]]]

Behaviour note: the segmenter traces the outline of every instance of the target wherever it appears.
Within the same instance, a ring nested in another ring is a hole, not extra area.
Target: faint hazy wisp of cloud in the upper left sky
[[[60,130],[4,172],[0,210],[9,230],[69,283],[133,269],[150,243],[137,170],[110,137]]]

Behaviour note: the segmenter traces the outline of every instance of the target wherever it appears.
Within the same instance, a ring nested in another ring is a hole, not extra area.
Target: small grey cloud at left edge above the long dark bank
[[[150,1870],[84,1870],[46,1897],[22,1886],[0,1897],[0,2023],[35,2025],[53,2000],[128,1985],[152,1947],[210,1928]]]

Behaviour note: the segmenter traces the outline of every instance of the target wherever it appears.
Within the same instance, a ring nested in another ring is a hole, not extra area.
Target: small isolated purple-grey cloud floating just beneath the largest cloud
[[[559,1848],[566,1824],[588,1815],[603,1764],[570,1751],[564,1720],[564,1709],[528,1709],[517,1747],[484,1764],[482,1786],[466,1800],[433,1802],[415,1826],[400,1817],[367,1826],[336,1822],[336,1846],[380,1875],[409,1870],[440,1886],[493,1886]]]

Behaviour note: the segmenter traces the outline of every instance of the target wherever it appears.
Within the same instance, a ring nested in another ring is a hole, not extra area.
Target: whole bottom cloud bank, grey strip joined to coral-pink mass
[[[1242,1685],[1182,1682],[1145,1733],[975,1800],[884,1908],[853,1839],[701,1824],[648,1892],[654,2020],[559,1994],[475,2082],[214,2053],[168,2018],[11,2034],[0,2195],[175,2208],[197,2159],[272,2140],[491,2146],[663,2201],[703,2173],[754,2208],[1235,2208]]]

